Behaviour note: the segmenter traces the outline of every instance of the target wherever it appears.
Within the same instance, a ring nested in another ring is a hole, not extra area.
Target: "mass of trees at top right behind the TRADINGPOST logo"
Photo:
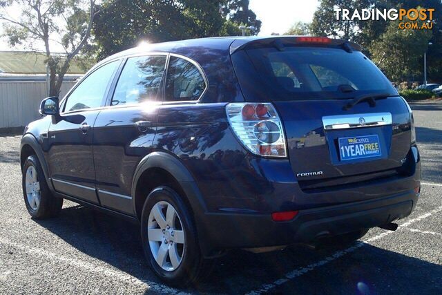
[[[432,30],[400,30],[394,21],[336,20],[335,8],[434,8]],[[428,79],[442,82],[442,3],[440,0],[322,0],[311,23],[311,35],[347,39],[361,44],[390,79],[422,79],[427,50]],[[416,39],[413,39],[416,38]],[[433,43],[428,48],[427,43]],[[384,55],[385,53],[385,55]],[[398,66],[398,65],[401,66]],[[400,82],[396,80],[396,82]]]

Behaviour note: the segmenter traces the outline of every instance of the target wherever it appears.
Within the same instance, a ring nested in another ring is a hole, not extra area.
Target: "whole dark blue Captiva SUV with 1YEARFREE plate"
[[[67,199],[137,220],[148,262],[171,285],[208,274],[227,249],[395,229],[419,198],[412,111],[348,41],[133,48],[40,111],[21,140],[30,216],[56,216]]]

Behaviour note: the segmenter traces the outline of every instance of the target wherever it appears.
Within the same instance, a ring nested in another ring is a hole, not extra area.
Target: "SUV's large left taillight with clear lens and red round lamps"
[[[226,111],[233,131],[251,153],[287,157],[282,123],[272,104],[232,103]]]

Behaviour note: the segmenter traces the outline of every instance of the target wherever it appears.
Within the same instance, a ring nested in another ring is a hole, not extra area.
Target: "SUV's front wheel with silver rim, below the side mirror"
[[[56,198],[50,192],[36,155],[30,155],[25,160],[21,173],[23,198],[30,216],[35,219],[57,216],[63,206],[63,199]]]

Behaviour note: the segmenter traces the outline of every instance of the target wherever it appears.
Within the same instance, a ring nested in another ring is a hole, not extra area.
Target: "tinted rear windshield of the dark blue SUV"
[[[240,85],[262,88],[269,100],[397,95],[381,70],[359,51],[290,47],[284,51],[256,48],[246,53],[255,75],[238,75]]]

